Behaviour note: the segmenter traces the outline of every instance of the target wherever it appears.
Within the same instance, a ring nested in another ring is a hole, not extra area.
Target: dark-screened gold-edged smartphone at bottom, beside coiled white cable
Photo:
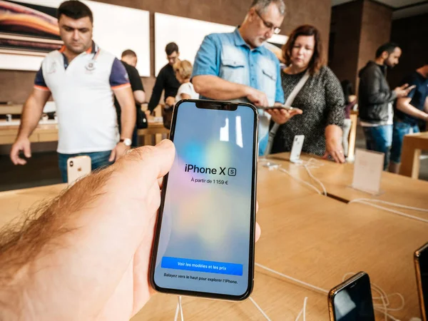
[[[359,272],[328,294],[330,321],[374,321],[370,277]]]

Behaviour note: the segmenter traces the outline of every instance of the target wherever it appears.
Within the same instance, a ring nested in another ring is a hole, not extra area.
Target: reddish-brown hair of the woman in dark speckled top
[[[282,58],[284,58],[286,65],[290,65],[292,47],[294,47],[298,36],[314,36],[315,38],[314,54],[312,55],[308,66],[310,74],[314,75],[320,71],[321,67],[325,63],[324,51],[322,50],[321,34],[320,31],[315,28],[315,26],[305,24],[303,26],[298,26],[295,30],[293,30],[290,34],[290,38],[287,40],[287,43],[282,46]]]

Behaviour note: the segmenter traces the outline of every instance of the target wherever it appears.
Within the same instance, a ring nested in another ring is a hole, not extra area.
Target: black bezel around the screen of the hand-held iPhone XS
[[[255,208],[256,208],[256,186],[257,186],[257,158],[258,158],[258,112],[255,106],[250,103],[230,103],[223,101],[208,101],[208,100],[195,100],[195,99],[185,99],[178,101],[175,104],[173,111],[173,119],[171,121],[170,129],[170,140],[174,141],[175,134],[175,123],[177,121],[178,111],[180,106],[183,103],[190,102],[195,103],[197,108],[206,108],[206,109],[215,109],[222,111],[236,111],[238,106],[246,106],[253,110],[254,116],[254,136],[253,136],[253,173],[252,173],[252,189],[251,189],[251,213],[250,213],[250,248],[249,248],[249,262],[248,262],[248,287],[242,295],[228,295],[220,293],[211,293],[211,292],[199,292],[199,291],[190,291],[190,290],[178,290],[170,289],[165,287],[160,287],[155,282],[155,270],[156,270],[156,258],[158,253],[158,243],[161,233],[161,222],[163,216],[163,205],[165,202],[166,190],[168,187],[168,174],[163,178],[163,188],[161,193],[161,205],[158,211],[158,217],[156,220],[155,228],[155,238],[153,242],[153,248],[151,253],[151,263],[149,267],[149,282],[151,287],[158,292],[173,294],[173,295],[187,295],[193,297],[207,297],[210,299],[218,300],[231,300],[231,301],[242,301],[247,299],[251,292],[253,291],[254,285],[254,260],[255,260]]]

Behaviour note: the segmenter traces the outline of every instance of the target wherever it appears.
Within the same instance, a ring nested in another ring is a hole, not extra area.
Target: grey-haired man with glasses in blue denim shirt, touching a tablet
[[[200,45],[193,66],[193,85],[201,98],[250,102],[258,107],[281,105],[280,63],[263,46],[280,32],[283,0],[254,0],[242,26],[228,34],[210,34]],[[297,112],[266,113],[259,109],[259,155],[267,146],[269,123],[285,123]]]

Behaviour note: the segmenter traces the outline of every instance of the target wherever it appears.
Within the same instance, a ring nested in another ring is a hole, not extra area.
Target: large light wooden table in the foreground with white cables
[[[277,156],[275,162],[288,168],[292,175],[299,173],[305,178],[305,169],[284,158],[285,155]],[[322,180],[334,176],[332,180],[336,183],[345,177],[341,183],[343,189],[349,184],[345,183],[346,175],[352,173],[349,166],[325,162],[320,169],[312,169],[312,173]],[[389,183],[400,185],[402,194],[412,195],[412,186],[402,184],[403,178],[388,175]],[[325,184],[327,190],[333,190],[335,185]],[[61,184],[0,193],[0,223],[16,217],[44,197],[54,197],[63,187]],[[342,282],[346,272],[364,270],[387,294],[399,292],[404,296],[404,309],[392,312],[394,317],[408,320],[419,316],[412,253],[427,241],[426,224],[367,205],[347,205],[318,195],[290,175],[268,170],[263,162],[259,164],[258,201],[262,235],[256,245],[256,263],[325,290]],[[328,320],[327,295],[283,280],[260,267],[255,269],[252,297],[274,321],[295,320],[305,297],[308,297],[307,320]],[[399,305],[395,299],[391,297],[392,307]],[[156,294],[133,321],[173,320],[176,304],[175,296]],[[183,310],[185,320],[263,320],[249,300],[223,302],[183,297]],[[382,320],[379,313],[377,317]]]

